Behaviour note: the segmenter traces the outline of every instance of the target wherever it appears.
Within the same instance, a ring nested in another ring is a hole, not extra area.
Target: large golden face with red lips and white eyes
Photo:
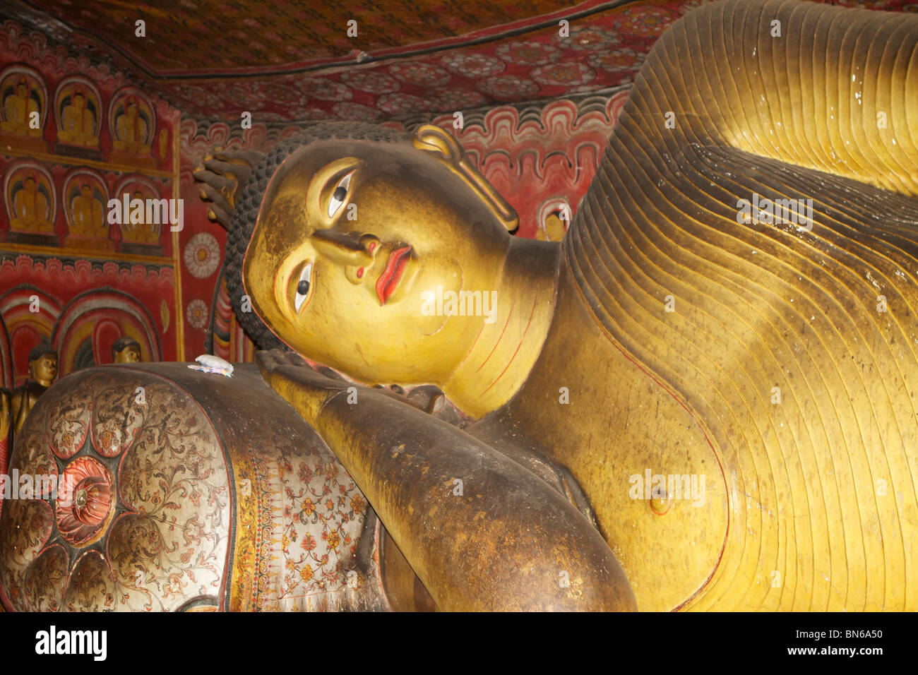
[[[494,291],[510,237],[438,152],[322,141],[265,192],[243,264],[252,309],[300,354],[367,382],[440,382],[481,316],[424,311],[425,291]]]

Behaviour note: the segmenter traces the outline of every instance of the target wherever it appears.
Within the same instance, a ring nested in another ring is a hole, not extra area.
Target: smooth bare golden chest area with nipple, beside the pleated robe
[[[526,384],[471,431],[488,441],[509,436],[567,467],[638,607],[676,608],[705,584],[721,555],[727,498],[719,458],[666,384],[592,318],[564,264],[559,282],[552,328]],[[672,494],[652,490],[657,475],[672,477],[665,488]]]

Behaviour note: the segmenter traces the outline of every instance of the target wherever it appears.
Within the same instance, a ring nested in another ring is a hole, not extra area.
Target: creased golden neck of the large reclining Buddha
[[[494,321],[475,343],[443,391],[462,411],[480,417],[506,403],[529,376],[554,313],[560,246],[514,239],[498,282]]]

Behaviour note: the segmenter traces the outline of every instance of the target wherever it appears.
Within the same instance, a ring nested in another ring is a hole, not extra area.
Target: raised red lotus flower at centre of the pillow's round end
[[[64,470],[55,502],[58,531],[73,546],[84,546],[105,531],[112,514],[112,480],[92,457],[79,457]]]

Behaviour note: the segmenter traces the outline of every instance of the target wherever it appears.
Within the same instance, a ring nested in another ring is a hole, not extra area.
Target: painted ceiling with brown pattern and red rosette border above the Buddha
[[[11,0],[36,28],[129,69],[186,113],[263,122],[446,113],[627,84],[663,30],[707,1]],[[833,4],[918,11],[910,0]]]

